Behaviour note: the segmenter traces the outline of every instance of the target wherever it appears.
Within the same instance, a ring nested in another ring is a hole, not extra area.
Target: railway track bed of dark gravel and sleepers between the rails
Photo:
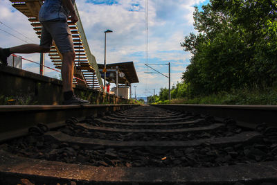
[[[181,108],[84,108],[87,116],[51,130],[39,123],[27,135],[2,137],[0,184],[277,184],[273,123],[243,125]]]

